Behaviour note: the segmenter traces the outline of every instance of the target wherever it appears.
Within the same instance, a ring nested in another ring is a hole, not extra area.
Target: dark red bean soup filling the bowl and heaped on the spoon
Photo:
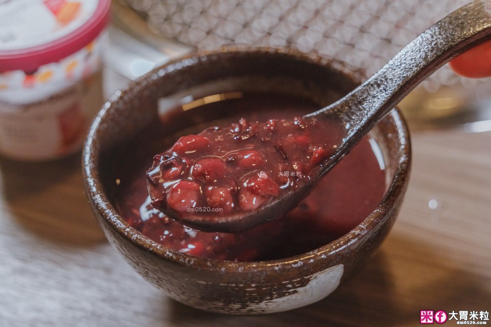
[[[159,211],[158,198],[166,186],[158,182],[159,178],[176,180],[183,174],[186,179],[178,181],[179,197],[165,193],[168,205],[181,212],[189,211],[193,207],[190,204],[197,208],[193,210],[209,215],[230,213],[236,208],[252,210],[280,194],[285,187],[294,187],[308,174],[310,166],[318,165],[330,153],[329,140],[319,139],[320,133],[315,128],[332,130],[334,138],[342,134],[342,125],[336,122],[301,118],[319,108],[318,104],[296,96],[241,93],[236,99],[201,104],[183,116],[194,123],[192,111],[195,110],[209,112],[212,118],[217,113],[233,113],[226,119],[195,122],[195,127],[171,137],[165,136],[162,126],[155,122],[133,143],[119,150],[123,155],[114,167],[113,190],[117,210],[132,227],[152,240],[205,258],[278,259],[328,244],[365,219],[384,195],[382,154],[369,136],[328,172],[294,210],[246,231],[217,233],[192,229]],[[277,135],[281,135],[281,140],[276,139],[280,136],[272,134],[272,130],[280,131]],[[220,155],[196,151],[212,137],[240,139],[240,147],[225,152],[212,149]],[[256,143],[262,142],[273,144],[274,151],[258,151]],[[198,153],[193,154],[195,151]],[[265,162],[273,168],[261,169]],[[226,182],[215,185],[213,180],[217,176],[225,176],[222,179]]]

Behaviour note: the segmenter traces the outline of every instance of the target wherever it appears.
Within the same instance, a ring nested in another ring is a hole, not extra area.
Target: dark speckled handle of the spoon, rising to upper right
[[[350,148],[425,77],[491,39],[490,27],[491,0],[474,0],[430,26],[346,97],[308,116],[340,116],[347,127],[341,147]]]

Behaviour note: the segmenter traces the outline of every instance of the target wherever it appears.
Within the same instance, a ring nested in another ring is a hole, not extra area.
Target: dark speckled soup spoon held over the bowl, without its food
[[[316,167],[296,190],[289,190],[252,211],[223,216],[176,217],[184,224],[209,231],[240,231],[281,217],[293,209],[372,127],[425,77],[443,64],[491,39],[491,0],[474,0],[432,25],[397,53],[382,69],[341,100],[304,117],[335,115],[346,126],[334,153]]]

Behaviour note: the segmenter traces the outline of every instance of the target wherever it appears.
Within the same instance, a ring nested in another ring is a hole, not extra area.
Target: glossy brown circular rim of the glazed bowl
[[[315,53],[305,53],[292,48],[274,49],[250,46],[226,46],[221,47],[218,50],[197,50],[175,60],[169,61],[131,82],[124,90],[151,83],[153,80],[165,74],[179,70],[183,67],[183,65],[193,65],[198,61],[206,60],[206,58],[210,55],[219,55],[220,52],[266,52],[273,54],[286,54],[317,65],[329,66],[336,73],[350,75],[353,81],[356,83],[360,83],[364,78],[364,74],[360,73],[360,71],[352,71],[335,60],[321,57]],[[274,260],[228,261],[196,257],[186,254],[185,252],[172,250],[157,243],[156,241],[153,241],[149,237],[137,231],[135,228],[131,227],[110,203],[106,193],[104,192],[102,182],[99,179],[99,173],[97,170],[98,159],[93,158],[94,145],[97,144],[96,136],[98,127],[108,115],[108,111],[110,111],[111,108],[116,105],[117,101],[124,95],[124,90],[116,91],[102,106],[89,128],[87,138],[84,142],[82,150],[82,174],[87,198],[90,201],[93,210],[97,211],[96,215],[98,214],[100,217],[102,217],[113,231],[119,233],[120,236],[125,238],[130,243],[133,243],[138,248],[146,250],[165,261],[172,262],[180,266],[206,271],[247,273],[250,271],[257,272],[258,270],[269,270],[271,269],[271,266],[279,268],[285,264],[298,263],[300,261],[310,260],[312,262],[312,260],[316,260],[316,258],[325,259],[329,256],[333,256],[336,252],[340,252],[347,247],[350,247],[358,238],[374,229],[382,218],[392,210],[398,199],[404,195],[407,183],[409,181],[411,163],[409,129],[399,109],[396,107],[389,113],[389,115],[392,117],[393,124],[395,125],[395,129],[397,130],[398,137],[400,139],[397,149],[398,163],[394,171],[391,184],[386,190],[385,195],[377,208],[375,208],[370,215],[368,215],[361,223],[359,223],[345,235],[315,250]]]

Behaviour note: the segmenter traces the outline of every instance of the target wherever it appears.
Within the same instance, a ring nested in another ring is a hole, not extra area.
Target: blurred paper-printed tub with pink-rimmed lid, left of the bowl
[[[49,160],[81,148],[102,97],[109,0],[0,1],[0,152]]]

